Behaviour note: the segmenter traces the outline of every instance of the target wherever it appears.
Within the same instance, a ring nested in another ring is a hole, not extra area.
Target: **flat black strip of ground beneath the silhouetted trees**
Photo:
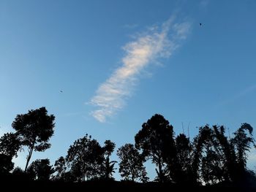
[[[0,191],[255,191],[256,188],[249,186],[238,186],[231,184],[211,185],[211,186],[192,186],[175,185],[171,183],[132,183],[113,180],[87,181],[84,183],[64,183],[64,182],[39,182],[20,180],[7,180],[1,178]]]

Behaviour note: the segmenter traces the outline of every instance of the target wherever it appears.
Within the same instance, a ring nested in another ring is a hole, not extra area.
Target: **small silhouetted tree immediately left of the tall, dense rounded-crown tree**
[[[146,168],[143,166],[144,158],[132,144],[126,144],[117,151],[118,157],[121,159],[119,163],[119,172],[124,180],[140,180],[148,181],[146,177]]]

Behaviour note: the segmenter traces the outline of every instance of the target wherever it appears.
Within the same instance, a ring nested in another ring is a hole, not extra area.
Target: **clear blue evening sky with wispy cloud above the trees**
[[[31,161],[54,164],[86,133],[116,149],[134,143],[156,113],[190,137],[206,123],[256,128],[255,9],[253,0],[0,0],[0,136],[16,115],[46,107],[52,147]]]

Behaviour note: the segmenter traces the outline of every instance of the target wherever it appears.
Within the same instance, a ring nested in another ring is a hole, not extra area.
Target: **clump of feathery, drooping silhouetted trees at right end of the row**
[[[249,131],[249,135],[245,131]],[[194,139],[192,158],[193,178],[204,183],[236,183],[246,177],[246,151],[255,145],[252,126],[247,123],[227,139],[224,126],[208,125],[199,128]]]

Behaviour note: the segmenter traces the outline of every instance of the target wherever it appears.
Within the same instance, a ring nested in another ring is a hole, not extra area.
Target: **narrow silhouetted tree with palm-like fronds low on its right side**
[[[111,142],[110,140],[105,141],[105,146],[103,147],[104,150],[104,161],[102,164],[102,173],[105,180],[109,180],[112,178],[114,171],[114,166],[117,161],[110,161],[110,155],[113,153],[116,144]]]

